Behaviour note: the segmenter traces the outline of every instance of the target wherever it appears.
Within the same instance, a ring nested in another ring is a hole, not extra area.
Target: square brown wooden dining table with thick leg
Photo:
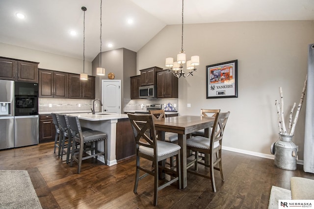
[[[178,134],[178,144],[181,146],[181,188],[187,186],[186,171],[186,139],[195,131],[205,129],[205,137],[209,137],[209,128],[213,126],[214,117],[204,116],[174,116],[155,120],[155,128],[158,136],[164,140],[165,132]]]

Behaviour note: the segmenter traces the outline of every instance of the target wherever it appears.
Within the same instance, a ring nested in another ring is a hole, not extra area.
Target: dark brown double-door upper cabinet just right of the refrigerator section
[[[68,98],[68,73],[39,70],[39,97]]]

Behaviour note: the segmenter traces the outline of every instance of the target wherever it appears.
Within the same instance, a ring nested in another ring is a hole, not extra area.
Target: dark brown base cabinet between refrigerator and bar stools
[[[54,141],[55,126],[51,115],[39,116],[39,143]]]

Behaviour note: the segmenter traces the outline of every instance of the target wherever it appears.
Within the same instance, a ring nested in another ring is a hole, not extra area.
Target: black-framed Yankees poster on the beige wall
[[[237,97],[237,60],[206,66],[206,98]]]

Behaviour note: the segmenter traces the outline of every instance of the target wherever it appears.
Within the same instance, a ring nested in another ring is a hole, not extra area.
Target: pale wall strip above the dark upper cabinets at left
[[[72,73],[83,72],[83,60],[61,56],[44,51],[0,43],[0,56],[32,62],[39,62],[38,67]],[[85,60],[85,73],[92,75],[92,63]]]

